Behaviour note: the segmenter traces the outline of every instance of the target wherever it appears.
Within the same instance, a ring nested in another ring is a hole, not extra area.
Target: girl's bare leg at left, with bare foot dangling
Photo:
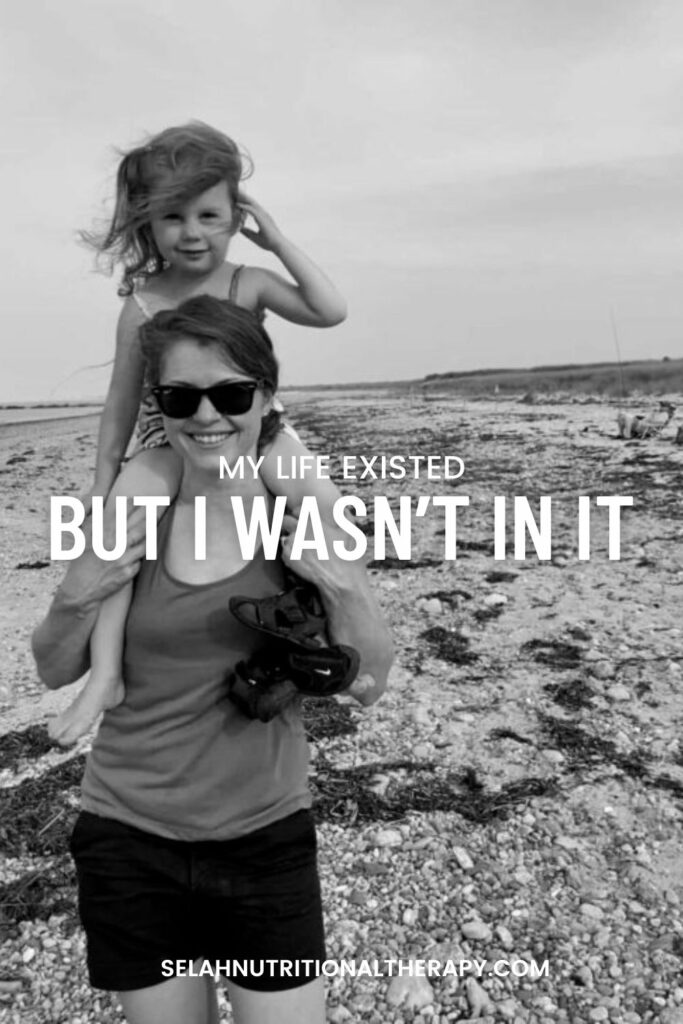
[[[169,447],[141,452],[129,462],[117,479],[108,498],[108,506],[120,496],[165,497],[171,501],[178,492],[180,464]],[[164,509],[160,509],[161,516]],[[116,708],[124,698],[122,675],[123,642],[126,617],[133,594],[132,584],[103,601],[90,640],[90,675],[88,680],[60,715],[48,723],[52,739],[63,744],[75,743],[95,723],[108,708]]]

